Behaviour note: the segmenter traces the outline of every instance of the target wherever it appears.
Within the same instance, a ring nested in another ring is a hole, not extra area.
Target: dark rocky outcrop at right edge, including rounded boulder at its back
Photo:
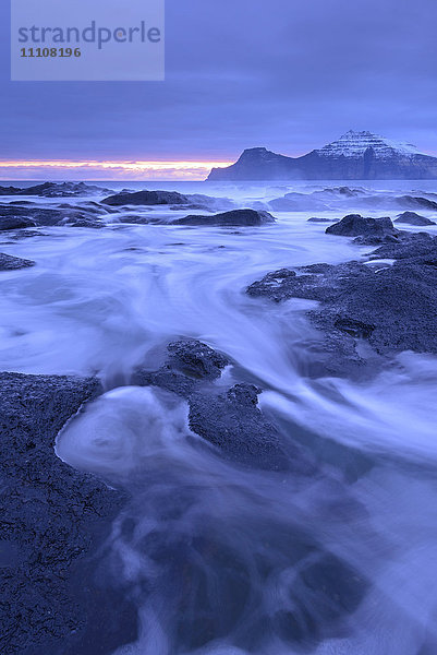
[[[403,350],[437,354],[437,238],[360,215],[345,216],[326,234],[379,246],[362,261],[281,269],[246,289],[275,302],[318,301],[307,312],[324,335],[313,344],[317,374],[373,376]]]

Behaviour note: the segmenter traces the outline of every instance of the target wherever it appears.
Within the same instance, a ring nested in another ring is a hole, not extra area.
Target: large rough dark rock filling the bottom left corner
[[[110,593],[93,585],[88,558],[124,496],[73,471],[53,451],[65,421],[100,391],[90,378],[0,373],[4,655],[71,653],[71,640],[86,632],[96,607],[102,632],[116,620]]]

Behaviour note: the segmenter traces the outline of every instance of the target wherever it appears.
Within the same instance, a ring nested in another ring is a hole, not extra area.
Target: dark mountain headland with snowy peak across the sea
[[[213,168],[208,180],[435,180],[437,157],[409,143],[350,130],[337,141],[302,157],[265,147],[245,150],[227,168]]]

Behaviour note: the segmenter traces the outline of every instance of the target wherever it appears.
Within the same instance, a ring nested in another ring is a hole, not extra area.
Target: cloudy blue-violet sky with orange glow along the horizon
[[[9,25],[1,179],[195,179],[349,129],[437,155],[436,0],[167,0],[163,82],[11,82]]]

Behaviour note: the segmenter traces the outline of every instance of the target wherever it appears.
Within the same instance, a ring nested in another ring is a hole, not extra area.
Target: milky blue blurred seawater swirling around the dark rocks
[[[390,198],[412,191],[399,184]],[[241,206],[288,190],[196,189]],[[256,228],[110,217],[99,230],[1,237],[2,252],[37,265],[1,274],[0,370],[98,374],[107,390],[57,452],[131,493],[104,562],[135,602],[139,634],[113,655],[437,652],[436,358],[404,353],[366,382],[311,379],[314,303],[244,294],[269,271],[368,252],[306,223],[351,212],[353,198],[341,212],[272,212],[278,222]],[[222,350],[266,389],[262,408],[317,473],[226,462],[191,432],[184,401],[130,385],[178,336]]]

